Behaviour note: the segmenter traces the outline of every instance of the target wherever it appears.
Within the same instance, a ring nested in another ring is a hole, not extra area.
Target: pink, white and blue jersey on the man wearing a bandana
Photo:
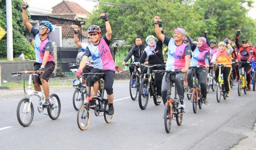
[[[168,46],[166,70],[185,68],[185,56],[192,56],[190,46],[185,42],[176,46],[175,40],[167,36],[163,43]]]

